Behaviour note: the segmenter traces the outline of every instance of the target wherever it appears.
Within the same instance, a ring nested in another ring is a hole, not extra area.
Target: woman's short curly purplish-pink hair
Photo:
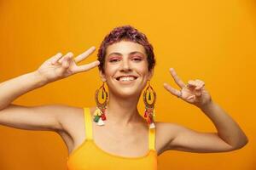
[[[98,68],[100,71],[102,71],[102,73],[104,73],[105,56],[108,46],[122,40],[137,42],[143,45],[148,59],[148,71],[154,69],[154,48],[148,42],[148,38],[146,37],[146,35],[140,31],[137,31],[137,29],[132,26],[119,26],[115,27],[112,31],[110,31],[110,33],[102,41],[102,44],[98,50],[97,56],[98,60],[100,61],[100,65],[98,65]]]

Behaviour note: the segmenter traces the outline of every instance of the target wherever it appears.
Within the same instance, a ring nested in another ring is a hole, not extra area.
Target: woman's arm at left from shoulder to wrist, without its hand
[[[58,106],[27,107],[11,104],[20,95],[40,88],[46,83],[38,71],[0,83],[0,125],[31,130],[61,129],[56,114]]]

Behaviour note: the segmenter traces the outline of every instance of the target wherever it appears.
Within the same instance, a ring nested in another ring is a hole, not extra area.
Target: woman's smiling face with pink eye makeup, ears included
[[[147,54],[143,45],[120,41],[108,46],[102,81],[107,81],[110,94],[122,97],[138,96],[153,76],[148,71]]]

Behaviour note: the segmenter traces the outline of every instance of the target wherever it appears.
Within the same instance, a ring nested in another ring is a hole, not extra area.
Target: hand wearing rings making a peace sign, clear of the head
[[[212,101],[210,94],[204,88],[205,82],[198,79],[196,79],[195,81],[189,80],[188,84],[185,85],[185,83],[179,77],[177,77],[177,74],[173,68],[170,69],[170,72],[174,81],[180,88],[182,88],[179,91],[175,88],[172,88],[169,84],[164,83],[164,88],[166,88],[166,90],[169,91],[171,94],[200,108],[209,104]]]

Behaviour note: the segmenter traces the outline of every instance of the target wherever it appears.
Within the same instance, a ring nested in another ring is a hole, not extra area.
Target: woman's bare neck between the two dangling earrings
[[[137,103],[140,96],[119,98],[109,94],[107,106],[107,119],[119,127],[127,127],[134,122],[139,122],[142,116],[137,110]]]

